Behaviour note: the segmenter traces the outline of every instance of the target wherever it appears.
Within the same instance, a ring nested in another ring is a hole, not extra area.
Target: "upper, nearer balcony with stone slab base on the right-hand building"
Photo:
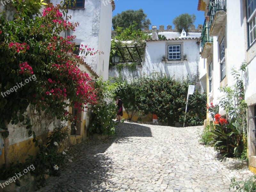
[[[226,0],[211,0],[209,3],[210,36],[218,36],[227,18]]]

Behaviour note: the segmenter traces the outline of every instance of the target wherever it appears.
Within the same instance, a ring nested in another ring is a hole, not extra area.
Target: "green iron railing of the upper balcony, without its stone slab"
[[[212,21],[214,19],[215,13],[217,11],[227,11],[226,9],[226,0],[211,0],[209,3],[209,24],[210,27],[212,25]]]

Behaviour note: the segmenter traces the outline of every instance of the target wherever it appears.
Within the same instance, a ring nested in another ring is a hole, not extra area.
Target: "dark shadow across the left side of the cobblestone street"
[[[120,178],[111,173],[113,161],[104,152],[112,143],[129,142],[129,137],[152,137],[152,133],[149,127],[132,123],[120,123],[116,126],[116,133],[116,136],[105,141],[88,140],[73,146],[67,154],[73,162],[61,170],[60,177],[50,177],[46,187],[38,191],[111,191],[111,187],[122,189],[121,185],[113,182]]]

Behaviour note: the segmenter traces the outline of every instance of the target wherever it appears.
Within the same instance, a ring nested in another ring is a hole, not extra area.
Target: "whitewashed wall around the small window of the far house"
[[[187,56],[184,61],[173,61],[165,63],[162,58],[165,56],[166,43],[181,43],[183,42],[183,52]],[[171,76],[175,79],[186,78],[189,80],[199,80],[199,51],[200,44],[197,44],[196,39],[182,39],[182,40],[165,40],[165,41],[147,41],[145,50],[145,61],[141,66],[137,66],[135,71],[129,68],[123,68],[121,74],[124,79],[130,81],[134,77],[147,76],[152,73],[159,73],[162,76]],[[118,76],[118,69],[112,67],[109,69],[109,76]],[[199,83],[197,87],[202,91],[202,84]]]

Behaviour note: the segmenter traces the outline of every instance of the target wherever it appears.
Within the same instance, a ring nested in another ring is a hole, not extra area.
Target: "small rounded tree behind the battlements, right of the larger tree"
[[[182,28],[184,28],[185,31],[188,33],[190,26],[194,24],[195,20],[195,14],[189,15],[188,13],[182,13],[179,16],[175,17],[172,20],[172,23],[175,25],[175,28],[178,29],[179,33],[182,32]]]

